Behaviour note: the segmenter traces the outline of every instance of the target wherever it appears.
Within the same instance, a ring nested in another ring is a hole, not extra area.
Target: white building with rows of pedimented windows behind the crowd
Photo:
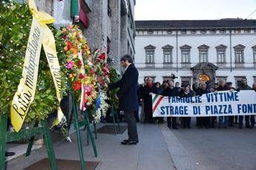
[[[256,20],[135,21],[135,63],[143,78],[162,82],[256,82]]]

